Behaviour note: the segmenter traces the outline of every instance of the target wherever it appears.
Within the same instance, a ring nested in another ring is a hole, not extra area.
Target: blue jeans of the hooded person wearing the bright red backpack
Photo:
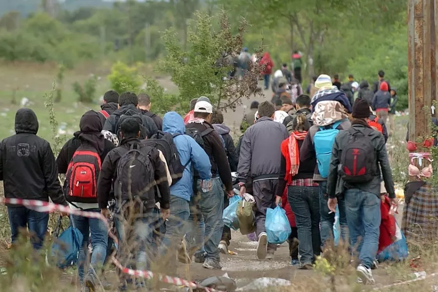
[[[100,213],[100,209],[89,209],[87,211]],[[77,228],[83,236],[79,257],[77,260],[77,271],[79,274],[79,279],[82,283],[85,276],[85,265],[88,261],[87,255],[90,239],[92,247],[90,271],[100,271],[107,256],[108,230],[105,226],[105,223],[101,219],[85,218],[72,215],[71,220],[73,227]]]

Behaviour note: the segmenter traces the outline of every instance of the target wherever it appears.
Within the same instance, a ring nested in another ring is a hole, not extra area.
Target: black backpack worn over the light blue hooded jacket
[[[142,142],[144,145],[155,147],[163,152],[167,167],[169,168],[170,175],[172,176],[172,185],[177,183],[183,177],[184,169],[190,163],[189,159],[185,165],[181,164],[178,149],[173,142],[173,138],[178,135],[180,134],[172,135],[170,133],[158,131],[158,133],[153,135],[150,139]]]

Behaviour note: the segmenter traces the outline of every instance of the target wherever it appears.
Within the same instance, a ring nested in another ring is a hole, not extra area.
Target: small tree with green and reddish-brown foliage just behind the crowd
[[[188,32],[188,49],[178,42],[176,33],[167,30],[163,40],[167,55],[160,69],[170,74],[180,91],[180,101],[188,106],[194,97],[207,96],[222,110],[235,109],[242,98],[255,94],[260,66],[250,63],[248,73],[241,79],[226,77],[233,70],[233,60],[242,49],[246,21],[243,19],[239,33],[233,35],[224,11],[219,15],[220,29],[214,31],[213,17],[195,14],[193,28]]]

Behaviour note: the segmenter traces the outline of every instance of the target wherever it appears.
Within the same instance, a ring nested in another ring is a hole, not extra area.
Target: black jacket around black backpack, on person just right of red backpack
[[[119,163],[120,158],[129,151],[130,146],[134,143],[140,144],[141,141],[138,138],[123,139],[120,146],[112,149],[105,157],[97,181],[97,201],[99,202],[99,208],[107,208],[113,183],[117,179],[117,164]],[[149,152],[149,155],[155,171],[155,180],[161,182],[157,184],[161,195],[160,206],[163,209],[168,209],[170,201],[169,183],[167,180],[162,179],[167,177],[165,165],[160,159],[160,153],[157,149],[153,148],[151,152]],[[149,192],[149,198],[155,198],[154,188],[151,188]],[[147,208],[153,208],[154,206],[154,200],[147,202]]]

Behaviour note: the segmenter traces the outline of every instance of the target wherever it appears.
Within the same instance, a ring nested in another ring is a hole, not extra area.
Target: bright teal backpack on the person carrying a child
[[[341,125],[342,122],[343,121],[339,121],[329,126],[319,127],[319,130],[315,133],[315,136],[313,136],[316,163],[318,164],[319,174],[323,178],[329,176],[331,148],[333,148],[334,139],[339,133],[339,130],[336,128]]]

